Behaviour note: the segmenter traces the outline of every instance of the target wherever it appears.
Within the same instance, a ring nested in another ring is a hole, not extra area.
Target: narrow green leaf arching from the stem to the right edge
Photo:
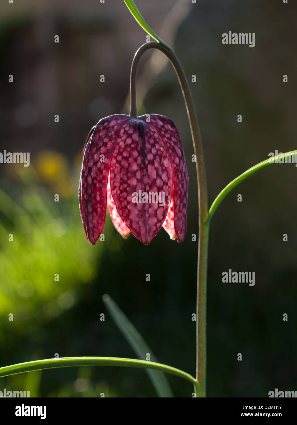
[[[219,195],[217,195],[217,198],[212,203],[212,205],[211,205],[211,207],[209,209],[209,213],[208,213],[209,214],[209,220],[214,215],[214,212],[217,210],[217,207],[222,202],[222,200],[239,183],[241,183],[242,181],[244,181],[246,178],[252,176],[253,174],[258,173],[258,171],[264,170],[264,168],[266,168],[266,167],[269,167],[269,166],[274,165],[274,164],[278,164],[278,162],[276,162],[276,161],[279,161],[279,159],[282,159],[283,158],[284,161],[285,161],[286,158],[289,159],[290,157],[295,156],[296,153],[297,153],[297,150],[292,150],[290,152],[286,152],[286,153],[283,153],[281,155],[278,155],[278,156],[275,156],[275,157],[266,159],[265,161],[259,162],[259,164],[254,165],[254,167],[249,168],[247,171],[245,171],[244,173],[242,173],[240,176],[234,178],[234,180],[230,181],[230,183],[227,184],[226,187],[224,187],[224,189],[219,193]],[[272,162],[272,160],[274,162]]]

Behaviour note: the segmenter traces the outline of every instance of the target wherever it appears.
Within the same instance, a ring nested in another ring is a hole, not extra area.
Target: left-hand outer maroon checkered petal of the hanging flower
[[[106,216],[107,181],[114,147],[127,115],[101,119],[86,143],[80,174],[80,211],[91,245],[96,244]]]

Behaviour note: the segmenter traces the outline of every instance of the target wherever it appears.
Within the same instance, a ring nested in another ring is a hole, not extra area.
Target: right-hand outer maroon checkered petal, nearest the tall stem
[[[145,120],[146,117],[147,116],[142,116],[139,117],[139,119]],[[183,242],[186,236],[187,227],[189,176],[180,135],[175,123],[166,116],[152,114],[150,115],[150,122],[148,124],[150,127],[154,127],[158,132],[171,163],[174,186],[174,229],[178,241]],[[164,226],[167,231],[169,224],[170,221],[168,220]]]

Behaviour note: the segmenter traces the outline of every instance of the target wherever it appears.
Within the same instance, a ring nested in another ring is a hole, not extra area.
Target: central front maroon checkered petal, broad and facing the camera
[[[111,194],[125,225],[143,244],[149,244],[167,216],[172,168],[154,127],[130,119],[123,130],[111,161]]]

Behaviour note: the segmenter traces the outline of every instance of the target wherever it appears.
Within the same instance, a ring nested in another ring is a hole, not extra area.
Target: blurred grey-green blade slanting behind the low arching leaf
[[[114,300],[112,300],[109,295],[105,294],[103,295],[103,301],[109,313],[111,314],[111,317],[114,319],[114,322],[125,336],[126,340],[133,348],[139,359],[145,359],[146,354],[150,353],[151,361],[158,363],[158,360],[156,359],[150,347],[144,341],[139,332],[134,328],[130,320],[128,320],[121,309],[119,309]],[[163,372],[147,369],[147,373],[153,382],[159,397],[173,397],[172,390]]]

